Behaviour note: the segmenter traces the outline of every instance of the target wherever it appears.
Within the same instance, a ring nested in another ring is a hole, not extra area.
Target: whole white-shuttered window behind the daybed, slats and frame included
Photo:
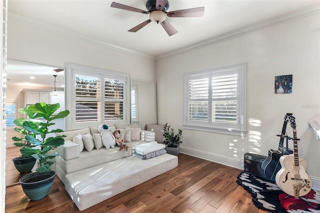
[[[75,64],[67,70],[67,129],[129,122],[128,74]]]

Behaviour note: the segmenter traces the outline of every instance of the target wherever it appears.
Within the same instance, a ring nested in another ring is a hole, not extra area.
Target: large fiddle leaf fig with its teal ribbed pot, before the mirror
[[[15,141],[23,143],[15,143],[16,146],[23,146],[20,149],[22,156],[31,156],[38,160],[39,167],[35,173],[23,176],[19,182],[22,186],[24,194],[32,201],[44,198],[49,192],[55,172],[49,170],[53,164],[51,159],[59,154],[51,152],[52,148],[64,144],[65,135],[48,137],[49,133],[63,132],[61,129],[49,130],[54,125],[52,121],[64,118],[69,114],[68,110],[55,114],[60,104],[36,103],[19,109],[20,113],[26,114],[27,118],[17,119],[15,124],[21,128],[16,131],[24,135],[24,138],[15,138]]]

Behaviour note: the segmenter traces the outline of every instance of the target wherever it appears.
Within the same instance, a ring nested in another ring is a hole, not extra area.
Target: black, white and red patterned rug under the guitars
[[[241,172],[236,183],[252,196],[253,204],[270,213],[320,213],[320,191],[311,190],[307,195],[294,198],[282,192],[266,179]]]

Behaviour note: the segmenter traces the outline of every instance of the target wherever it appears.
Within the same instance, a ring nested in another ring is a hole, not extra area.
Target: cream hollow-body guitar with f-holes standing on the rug
[[[280,157],[281,169],[275,175],[275,182],[283,192],[298,198],[310,192],[312,180],[305,172],[307,161],[298,157],[295,118],[289,116],[289,121],[293,129],[293,155]]]

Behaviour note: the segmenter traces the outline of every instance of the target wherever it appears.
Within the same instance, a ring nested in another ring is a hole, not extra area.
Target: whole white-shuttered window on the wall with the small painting
[[[246,64],[184,75],[185,129],[245,134]]]

